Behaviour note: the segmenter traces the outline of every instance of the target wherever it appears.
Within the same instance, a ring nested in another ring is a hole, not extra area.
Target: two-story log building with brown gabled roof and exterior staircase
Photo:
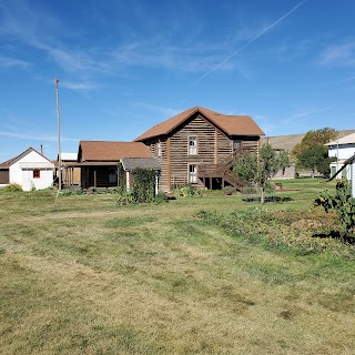
[[[264,132],[248,115],[226,115],[204,108],[189,109],[140,136],[161,165],[160,190],[191,183],[196,187],[240,187],[231,173],[242,151],[257,152]]]

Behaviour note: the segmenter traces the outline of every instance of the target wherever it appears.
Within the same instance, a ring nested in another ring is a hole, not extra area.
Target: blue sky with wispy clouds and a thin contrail
[[[1,0],[0,162],[131,141],[201,105],[266,135],[355,129],[354,0]]]

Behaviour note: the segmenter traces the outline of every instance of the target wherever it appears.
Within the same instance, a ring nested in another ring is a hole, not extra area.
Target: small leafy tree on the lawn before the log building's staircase
[[[267,183],[281,169],[288,165],[288,153],[277,152],[266,143],[261,149],[260,159],[254,153],[245,153],[236,160],[233,171],[242,182],[256,183],[261,187],[261,202],[264,203]]]

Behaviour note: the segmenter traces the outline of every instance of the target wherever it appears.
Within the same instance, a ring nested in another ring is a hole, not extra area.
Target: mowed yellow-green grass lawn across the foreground
[[[54,207],[54,191],[0,191],[0,353],[355,354],[348,246],[266,247],[197,217],[334,219],[312,205],[334,185],[284,186],[300,191],[263,206],[241,195],[120,206],[102,194],[60,195]]]

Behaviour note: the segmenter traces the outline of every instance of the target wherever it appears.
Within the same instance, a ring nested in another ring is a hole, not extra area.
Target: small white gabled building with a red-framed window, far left
[[[0,186],[20,184],[23,191],[42,190],[53,184],[54,164],[33,148],[0,164]]]

